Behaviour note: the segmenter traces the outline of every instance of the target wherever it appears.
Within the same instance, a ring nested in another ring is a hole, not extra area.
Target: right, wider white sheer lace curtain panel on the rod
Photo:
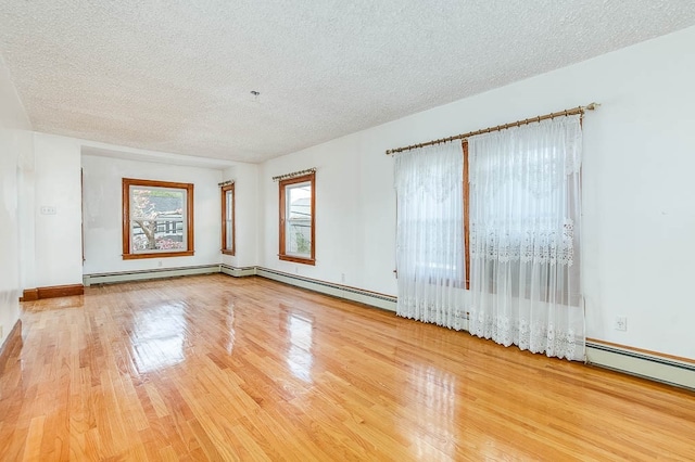
[[[582,360],[580,117],[468,143],[470,333]]]

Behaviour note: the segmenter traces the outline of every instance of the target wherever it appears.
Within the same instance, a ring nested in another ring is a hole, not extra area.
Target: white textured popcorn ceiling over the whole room
[[[0,0],[0,50],[37,131],[261,162],[693,24],[692,0]]]

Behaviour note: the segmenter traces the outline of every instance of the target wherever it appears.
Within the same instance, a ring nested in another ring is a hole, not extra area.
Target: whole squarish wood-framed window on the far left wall
[[[193,184],[123,179],[123,259],[193,255]]]

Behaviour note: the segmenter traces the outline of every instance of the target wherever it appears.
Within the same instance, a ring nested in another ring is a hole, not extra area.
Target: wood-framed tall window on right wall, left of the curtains
[[[280,181],[281,260],[315,265],[314,183],[316,174]]]

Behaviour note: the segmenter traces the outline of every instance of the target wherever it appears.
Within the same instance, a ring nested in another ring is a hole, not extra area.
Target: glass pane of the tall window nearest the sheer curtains
[[[285,249],[288,255],[312,256],[312,183],[286,187]]]

